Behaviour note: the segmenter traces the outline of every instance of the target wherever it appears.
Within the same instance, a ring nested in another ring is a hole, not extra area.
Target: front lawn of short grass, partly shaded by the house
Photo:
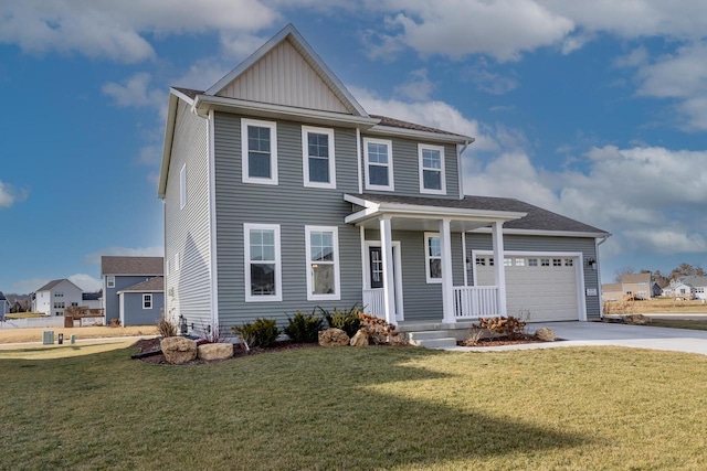
[[[1,360],[0,469],[705,469],[707,357],[304,349]]]

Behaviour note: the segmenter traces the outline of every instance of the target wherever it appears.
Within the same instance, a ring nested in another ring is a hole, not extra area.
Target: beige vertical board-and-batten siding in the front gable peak
[[[334,113],[350,111],[289,41],[253,64],[219,96]]]

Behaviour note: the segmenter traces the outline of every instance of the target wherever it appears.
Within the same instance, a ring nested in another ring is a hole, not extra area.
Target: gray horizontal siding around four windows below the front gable
[[[262,118],[260,118],[262,119]],[[336,189],[304,186],[302,124],[277,120],[278,185],[243,183],[241,119],[215,114],[215,211],[219,322],[224,328],[256,318],[277,319],[312,310],[360,303],[361,253],[358,227],[344,223],[351,205],[344,193],[358,192],[356,131],[335,128]],[[279,224],[282,301],[245,302],[243,224]],[[305,226],[336,226],[339,234],[341,296],[307,301]]]

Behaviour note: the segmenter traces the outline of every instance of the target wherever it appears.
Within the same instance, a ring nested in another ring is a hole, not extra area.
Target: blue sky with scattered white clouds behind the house
[[[705,266],[700,2],[34,0],[0,6],[0,290],[161,255],[169,86],[209,87],[288,22],[369,113],[476,137],[468,194],[611,232],[604,281]]]

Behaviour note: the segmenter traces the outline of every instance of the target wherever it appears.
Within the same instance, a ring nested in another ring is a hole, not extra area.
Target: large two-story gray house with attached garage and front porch
[[[292,25],[209,89],[171,88],[166,312],[194,333],[355,303],[408,325],[599,317],[610,234],[465,196],[473,141],[369,115]]]

